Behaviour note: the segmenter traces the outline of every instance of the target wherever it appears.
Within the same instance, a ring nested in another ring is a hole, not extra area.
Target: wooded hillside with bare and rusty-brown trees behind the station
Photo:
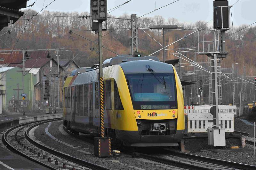
[[[76,63],[81,67],[90,67],[94,63],[98,63],[98,47],[96,44],[82,38],[86,37],[92,41],[97,42],[98,35],[94,34],[91,30],[91,20],[86,18],[77,18],[78,16],[88,16],[88,12],[50,12],[44,11],[38,16],[33,17],[36,11],[24,11],[25,17],[21,17],[15,24],[10,27],[5,27],[2,33],[8,29],[11,30],[11,34],[5,34],[0,38],[1,49],[44,49],[44,48],[67,48],[61,52],[62,58],[75,57]],[[122,16],[109,15],[107,23],[108,30],[103,32],[103,46],[115,51],[117,54],[129,54],[130,53],[130,37],[131,37],[131,23],[125,19],[130,19],[130,15],[124,13]],[[213,21],[210,21],[213,22]],[[163,18],[156,15],[154,17],[142,17],[139,18],[138,27],[148,28],[150,25],[178,25],[186,29],[189,28],[212,28],[208,26],[205,21],[197,21],[196,23],[181,23],[175,18]],[[229,52],[228,58],[224,58],[221,62],[222,68],[231,68],[232,63],[239,63],[237,70],[238,77],[243,72],[243,66],[246,66],[246,75],[255,75],[255,50],[256,50],[256,26],[250,26],[242,31],[235,33],[236,31],[244,28],[246,25],[232,27],[231,30],[226,32],[226,35],[232,34],[226,39],[226,48]],[[25,28],[25,29],[24,29]],[[69,34],[69,30],[77,33]],[[153,40],[143,30],[139,29],[139,51],[142,55],[149,55],[159,49],[159,45],[156,41],[162,43],[161,30],[144,30],[150,36],[154,37]],[[165,32],[166,42],[170,44],[176,41],[193,30],[171,30]],[[2,34],[1,33],[1,34]],[[21,36],[20,36],[21,35]],[[19,41],[17,41],[19,40]],[[197,33],[186,37],[184,40],[175,43],[168,48],[188,48],[196,47],[197,49]],[[71,49],[70,49],[71,48]],[[77,49],[84,48],[84,49]],[[94,48],[94,50],[90,50]],[[176,59],[177,57],[172,55],[174,50],[168,50],[166,52],[166,60]],[[55,58],[54,51],[51,51],[52,57]],[[103,59],[107,59],[115,56],[116,54],[103,49]],[[154,54],[162,60],[162,51]],[[194,54],[186,54],[188,58],[194,59]],[[206,55],[197,55],[197,62],[207,62]],[[184,62],[184,61],[183,61]],[[208,64],[204,64],[208,68]],[[184,67],[183,71],[192,70],[192,67]],[[230,71],[229,71],[230,72]],[[192,79],[188,77],[187,79]],[[255,91],[255,90],[254,90]],[[227,91],[229,93],[229,91]],[[253,97],[254,98],[254,97]],[[228,101],[227,101],[228,102]]]

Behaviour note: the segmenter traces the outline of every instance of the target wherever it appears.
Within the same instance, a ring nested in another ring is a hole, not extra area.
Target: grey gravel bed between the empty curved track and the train
[[[49,133],[52,136],[59,139],[60,141],[63,141],[65,143],[68,143],[75,147],[70,147],[63,143],[55,141],[51,137],[49,137],[45,133],[45,128],[49,125],[49,123],[45,123],[45,124],[41,125],[40,127],[38,127],[35,130],[34,135],[41,142],[43,142],[44,144],[46,144],[52,148],[55,148],[58,151],[65,152],[69,155],[75,156],[76,158],[83,159],[88,162],[92,162],[92,163],[95,163],[95,164],[98,164],[101,166],[105,166],[105,167],[108,167],[113,170],[119,170],[119,169],[124,169],[124,170],[130,170],[130,169],[164,170],[165,169],[165,168],[161,168],[159,166],[155,166],[155,165],[152,165],[149,163],[135,160],[130,155],[127,155],[127,154],[121,154],[120,157],[117,158],[117,160],[119,160],[120,162],[112,162],[111,160],[115,160],[114,157],[112,157],[112,158],[97,158],[93,154],[94,153],[93,144],[81,141],[81,140],[71,137],[67,134],[63,135],[59,130],[59,127],[61,124],[62,124],[62,121],[61,122],[52,122],[51,126],[48,129]],[[79,150],[80,151],[82,150],[83,152],[80,152]],[[86,154],[84,152],[90,152],[90,153]],[[135,166],[135,167],[132,167],[132,166]]]

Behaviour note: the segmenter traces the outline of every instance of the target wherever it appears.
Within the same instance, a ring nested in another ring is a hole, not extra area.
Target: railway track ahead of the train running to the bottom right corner
[[[236,162],[230,162],[220,159],[213,159],[203,156],[197,156],[187,153],[166,151],[165,154],[160,155],[148,155],[144,153],[133,153],[133,156],[137,160],[151,161],[151,163],[162,163],[166,166],[166,169],[172,169],[172,166],[179,166],[187,169],[221,169],[221,170],[255,170],[256,166],[241,164]],[[152,161],[156,161],[155,163]]]

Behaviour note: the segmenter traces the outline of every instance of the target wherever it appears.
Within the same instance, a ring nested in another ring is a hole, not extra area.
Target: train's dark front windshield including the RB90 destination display
[[[173,73],[126,74],[134,109],[177,108]]]

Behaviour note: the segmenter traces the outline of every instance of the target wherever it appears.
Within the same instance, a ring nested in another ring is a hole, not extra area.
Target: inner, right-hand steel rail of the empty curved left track
[[[65,153],[62,153],[62,152],[59,152],[59,151],[56,151],[56,150],[53,150],[53,149],[50,149],[48,148],[47,146],[44,146],[42,144],[39,144],[38,142],[34,141],[33,139],[31,139],[28,135],[28,132],[33,129],[34,127],[36,127],[38,124],[36,125],[33,125],[31,126],[30,128],[28,128],[25,132],[25,137],[26,139],[31,142],[32,144],[34,144],[35,146],[45,150],[46,152],[50,152],[50,153],[53,153],[54,155],[57,155],[61,158],[65,158],[65,159],[68,159],[72,162],[76,162],[78,164],[81,164],[81,165],[84,165],[84,166],[87,166],[87,167],[90,167],[92,169],[98,169],[98,170],[110,170],[109,168],[106,168],[106,167],[103,167],[103,166],[99,166],[99,165],[96,165],[96,164],[93,164],[91,162],[87,162],[85,160],[82,160],[82,159],[78,159],[78,158],[75,158],[75,157],[72,157],[70,155],[66,155]]]

